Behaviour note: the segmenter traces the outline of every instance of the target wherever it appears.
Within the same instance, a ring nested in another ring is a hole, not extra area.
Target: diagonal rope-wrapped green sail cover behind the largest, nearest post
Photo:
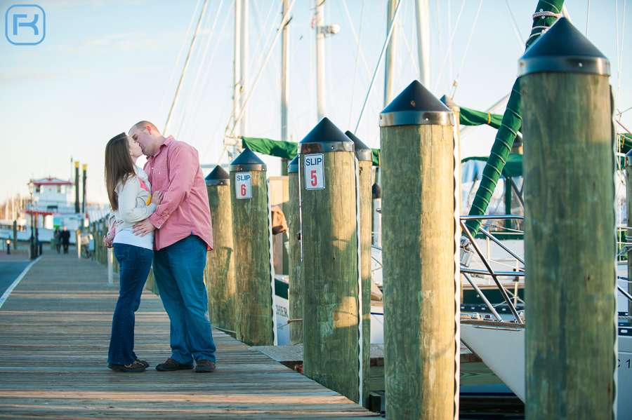
[[[536,6],[536,12],[548,11],[559,14],[562,13],[563,4],[564,0],[540,0]],[[543,16],[541,18],[534,19],[531,34],[539,35],[542,32],[543,27],[550,27],[556,20],[558,20],[558,18],[555,18],[555,16]],[[536,39],[539,39],[539,36],[530,36],[527,41],[527,48],[529,48]],[[513,140],[515,140],[515,136],[522,125],[522,117],[520,116],[521,112],[520,79],[516,79],[515,83],[513,83],[507,109],[505,110],[505,114],[503,114],[503,119],[498,133],[496,134],[496,140],[494,140],[492,151],[489,153],[487,165],[485,165],[485,170],[483,170],[480,186],[478,187],[478,191],[476,191],[476,196],[472,203],[472,207],[470,208],[470,216],[482,216],[485,215],[485,212],[487,211],[489,200],[492,198],[492,194],[494,194],[496,183],[498,183],[498,179],[507,161],[509,151],[513,146]],[[466,225],[473,235],[476,235],[478,232],[480,224],[480,220],[466,221]]]

